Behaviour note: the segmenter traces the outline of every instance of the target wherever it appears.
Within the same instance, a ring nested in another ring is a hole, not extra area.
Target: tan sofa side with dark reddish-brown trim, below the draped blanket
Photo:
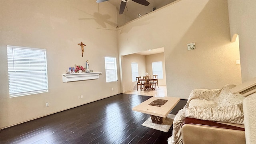
[[[208,120],[196,121],[198,119],[185,118],[182,122],[183,144],[246,144],[244,128]]]

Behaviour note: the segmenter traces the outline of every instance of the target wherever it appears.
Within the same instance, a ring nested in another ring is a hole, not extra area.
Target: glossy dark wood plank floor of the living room
[[[0,144],[167,144],[166,133],[141,124],[150,116],[132,107],[151,98],[118,94],[1,130]],[[177,114],[187,100],[170,112]]]

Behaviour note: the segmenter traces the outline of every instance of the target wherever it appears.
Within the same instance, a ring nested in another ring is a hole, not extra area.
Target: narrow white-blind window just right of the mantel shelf
[[[106,82],[117,81],[116,58],[105,56]]]

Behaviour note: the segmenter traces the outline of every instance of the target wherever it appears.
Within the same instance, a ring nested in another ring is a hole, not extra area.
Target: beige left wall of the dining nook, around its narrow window
[[[146,72],[146,58],[140,54],[129,54],[122,56],[122,75],[124,92],[128,90],[137,90],[136,82],[132,82],[132,62],[138,63],[139,76],[144,76]]]

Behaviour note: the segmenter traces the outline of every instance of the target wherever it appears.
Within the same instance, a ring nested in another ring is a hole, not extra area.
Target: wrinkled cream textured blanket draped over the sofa
[[[244,98],[240,94],[230,92],[235,86],[228,84],[222,89],[192,90],[186,106],[179,110],[174,118],[172,136],[168,138],[168,144],[183,144],[180,128],[182,120],[186,117],[244,124]]]

